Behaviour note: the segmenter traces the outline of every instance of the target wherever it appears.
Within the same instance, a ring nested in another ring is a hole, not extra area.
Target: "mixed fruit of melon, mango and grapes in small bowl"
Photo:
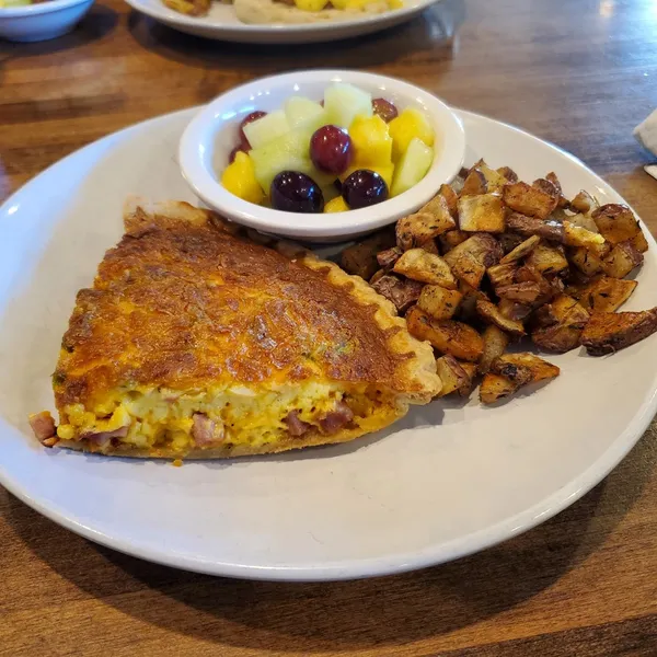
[[[287,212],[344,212],[403,194],[427,174],[434,130],[415,107],[401,112],[350,84],[322,102],[288,99],[252,112],[221,174],[235,196]]]

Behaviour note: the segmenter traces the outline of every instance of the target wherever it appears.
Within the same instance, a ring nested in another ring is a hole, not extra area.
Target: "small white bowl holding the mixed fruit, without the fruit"
[[[335,214],[283,212],[238,198],[221,183],[221,172],[238,142],[242,118],[255,110],[273,112],[292,95],[320,100],[334,82],[354,84],[383,96],[400,110],[426,113],[436,132],[434,162],[413,188],[381,204]],[[359,71],[313,70],[255,80],[206,105],[189,123],[180,142],[183,176],[198,197],[217,212],[263,232],[308,242],[335,242],[371,232],[405,217],[430,200],[442,183],[459,172],[465,153],[465,134],[457,115],[435,95],[401,80]]]

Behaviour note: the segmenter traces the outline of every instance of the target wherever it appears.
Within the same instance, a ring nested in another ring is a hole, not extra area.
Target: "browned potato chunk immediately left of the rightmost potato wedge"
[[[533,319],[539,328],[531,334],[531,338],[546,351],[565,354],[579,346],[588,319],[588,312],[576,299],[562,295],[539,309]]]

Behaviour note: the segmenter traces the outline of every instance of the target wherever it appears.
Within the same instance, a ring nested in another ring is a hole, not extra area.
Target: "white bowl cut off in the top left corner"
[[[47,0],[0,9],[0,37],[14,42],[47,41],[70,32],[93,0]]]

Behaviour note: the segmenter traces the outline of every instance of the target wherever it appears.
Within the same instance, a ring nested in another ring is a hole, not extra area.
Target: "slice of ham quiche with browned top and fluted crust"
[[[361,278],[185,203],[131,201],[78,293],[45,445],[222,458],[343,442],[440,391],[431,348]]]

